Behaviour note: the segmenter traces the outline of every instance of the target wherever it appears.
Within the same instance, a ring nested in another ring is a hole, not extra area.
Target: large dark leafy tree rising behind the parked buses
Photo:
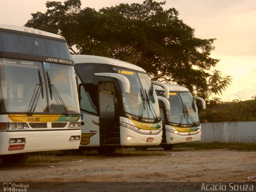
[[[219,62],[210,58],[215,39],[196,38],[194,29],[178,18],[178,11],[164,10],[164,4],[145,0],[96,11],[81,9],[80,0],[67,0],[64,5],[47,1],[46,13],[32,14],[25,26],[63,35],[73,54],[124,60],[144,68],[152,80],[175,82],[201,95],[214,92],[206,71]],[[218,83],[221,94],[228,83]]]

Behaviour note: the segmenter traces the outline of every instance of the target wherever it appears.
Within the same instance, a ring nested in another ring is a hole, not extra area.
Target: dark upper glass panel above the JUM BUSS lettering
[[[0,42],[0,52],[12,52],[72,60],[65,41],[0,31]]]

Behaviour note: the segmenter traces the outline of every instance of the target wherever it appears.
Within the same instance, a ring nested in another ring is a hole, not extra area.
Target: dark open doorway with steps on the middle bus
[[[114,82],[98,83],[100,145],[120,145],[120,122],[116,115],[116,86]]]

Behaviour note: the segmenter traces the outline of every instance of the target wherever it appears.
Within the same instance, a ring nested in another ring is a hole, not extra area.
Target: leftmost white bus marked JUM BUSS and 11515
[[[77,149],[80,110],[64,37],[0,24],[0,159]]]

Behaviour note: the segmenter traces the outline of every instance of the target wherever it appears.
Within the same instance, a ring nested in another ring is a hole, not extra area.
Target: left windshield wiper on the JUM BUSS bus
[[[41,92],[42,98],[44,98],[43,82],[42,82],[42,77],[41,77],[39,69],[38,69],[38,78],[39,78],[39,84],[36,84],[36,88],[34,90],[32,98],[30,100],[30,104],[28,106],[28,116],[32,116],[33,115],[33,113],[34,113],[34,111],[36,109],[36,105],[38,103],[40,92]]]

